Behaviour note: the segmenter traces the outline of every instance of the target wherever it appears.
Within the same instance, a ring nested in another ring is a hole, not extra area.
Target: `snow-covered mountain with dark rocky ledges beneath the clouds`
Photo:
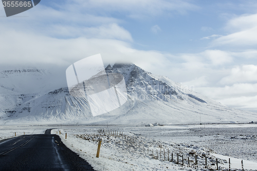
[[[0,122],[137,125],[257,121],[257,113],[226,107],[134,64],[108,65],[105,70],[124,76],[128,101],[97,117],[91,115],[87,100],[70,96],[67,87],[50,90],[54,86],[44,70],[3,71]],[[30,86],[24,83],[31,80]]]

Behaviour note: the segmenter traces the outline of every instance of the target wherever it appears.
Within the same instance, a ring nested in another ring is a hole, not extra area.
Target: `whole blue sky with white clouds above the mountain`
[[[6,17],[1,67],[65,69],[101,53],[132,62],[227,106],[257,112],[257,2],[42,0]]]

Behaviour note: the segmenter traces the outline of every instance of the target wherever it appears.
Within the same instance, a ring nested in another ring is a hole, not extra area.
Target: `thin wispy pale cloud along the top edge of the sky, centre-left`
[[[185,14],[187,11],[199,9],[196,5],[187,1],[165,1],[165,0],[74,0],[66,1],[68,8],[87,10],[92,13],[106,14],[112,12],[122,12],[131,18],[145,18],[149,16],[167,15],[175,12]],[[71,7],[69,7],[71,6]]]

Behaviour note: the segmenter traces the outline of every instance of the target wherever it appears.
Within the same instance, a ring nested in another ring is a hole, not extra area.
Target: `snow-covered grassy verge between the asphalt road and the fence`
[[[52,134],[56,134],[59,129],[53,129]],[[140,135],[127,134],[114,136],[100,134],[96,128],[88,129],[60,129],[62,142],[85,159],[96,170],[180,170],[181,165],[176,164],[177,153],[183,154],[184,170],[206,170],[205,157],[209,168],[216,168],[215,157],[210,155],[212,151],[203,147],[188,144],[178,144],[167,141],[146,139]],[[67,139],[65,139],[67,132]],[[59,131],[58,131],[59,133]],[[98,140],[102,139],[99,158],[96,158]],[[144,147],[144,149],[143,149]],[[162,150],[160,158],[160,147]],[[174,162],[168,161],[168,148],[173,153]],[[149,149],[149,151],[148,151]],[[163,149],[165,157],[163,159]],[[156,150],[158,150],[158,157]],[[197,156],[198,168],[195,169],[195,156]],[[188,164],[190,159],[190,167]],[[219,164],[224,164],[226,160],[219,159]],[[182,163],[181,156],[179,163]],[[180,169],[179,169],[180,168]]]

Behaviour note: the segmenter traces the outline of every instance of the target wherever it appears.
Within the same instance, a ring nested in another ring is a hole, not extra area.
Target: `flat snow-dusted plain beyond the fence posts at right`
[[[192,125],[179,129],[154,127],[152,130],[137,130],[136,134],[156,140],[203,146],[217,154],[257,162],[257,124]]]

